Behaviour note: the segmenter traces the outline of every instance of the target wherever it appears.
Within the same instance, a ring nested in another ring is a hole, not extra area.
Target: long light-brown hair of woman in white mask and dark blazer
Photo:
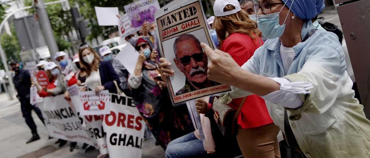
[[[87,62],[84,61],[83,57],[82,57],[82,52],[85,50],[85,49],[88,49],[90,52],[92,52],[94,54],[94,61],[92,61],[91,64],[88,64]],[[85,48],[82,48],[80,49],[80,51],[78,52],[78,58],[80,58],[80,65],[81,65],[81,68],[85,69],[86,71],[86,74],[87,76],[90,76],[91,72],[94,70],[94,71],[98,71],[98,68],[99,68],[99,62],[101,61],[101,58],[100,56],[95,52],[94,49],[92,49],[91,47],[85,47]]]

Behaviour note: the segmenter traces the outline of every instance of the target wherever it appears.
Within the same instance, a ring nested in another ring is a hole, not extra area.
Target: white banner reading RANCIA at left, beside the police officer
[[[45,97],[37,107],[44,116],[45,126],[51,137],[67,141],[85,142],[97,147],[94,129],[81,126],[77,113],[69,106],[64,95]]]

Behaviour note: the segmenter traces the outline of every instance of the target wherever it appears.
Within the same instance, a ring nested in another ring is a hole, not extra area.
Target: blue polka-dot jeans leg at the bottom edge
[[[195,137],[194,132],[176,138],[169,142],[166,149],[166,158],[206,157],[203,141]]]

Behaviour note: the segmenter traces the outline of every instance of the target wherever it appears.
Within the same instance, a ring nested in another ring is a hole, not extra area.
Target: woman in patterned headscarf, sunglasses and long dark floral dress
[[[132,99],[155,139],[166,149],[171,140],[194,131],[192,121],[186,106],[172,106],[149,38],[140,36],[131,44],[140,52],[134,74],[128,79]]]

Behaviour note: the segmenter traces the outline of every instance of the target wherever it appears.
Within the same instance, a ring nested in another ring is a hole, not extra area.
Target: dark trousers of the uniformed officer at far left
[[[35,121],[33,121],[31,111],[34,110],[38,118],[43,122],[43,124],[45,124],[44,117],[41,114],[40,109],[30,104],[29,97],[20,97],[19,101],[21,102],[21,110],[27,126],[30,127],[32,134],[36,134],[37,133],[36,124]]]

